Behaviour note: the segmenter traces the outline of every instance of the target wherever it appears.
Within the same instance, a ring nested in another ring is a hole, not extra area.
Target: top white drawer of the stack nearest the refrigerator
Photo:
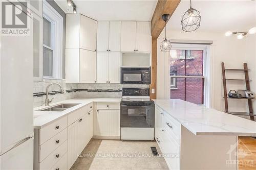
[[[62,117],[52,124],[40,129],[40,145],[65,128],[67,128],[67,116]]]

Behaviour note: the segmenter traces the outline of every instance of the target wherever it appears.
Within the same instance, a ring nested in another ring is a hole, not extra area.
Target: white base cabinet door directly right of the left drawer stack
[[[78,120],[68,127],[68,169],[76,161],[79,150],[79,122]]]

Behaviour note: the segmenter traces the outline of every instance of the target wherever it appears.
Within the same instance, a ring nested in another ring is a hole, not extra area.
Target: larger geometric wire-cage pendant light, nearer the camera
[[[201,16],[200,12],[191,7],[185,12],[181,19],[181,27],[185,32],[195,31],[200,27]]]

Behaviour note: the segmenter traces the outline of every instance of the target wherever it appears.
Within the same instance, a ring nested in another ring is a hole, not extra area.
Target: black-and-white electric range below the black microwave
[[[123,88],[121,139],[154,140],[155,104],[150,88]]]

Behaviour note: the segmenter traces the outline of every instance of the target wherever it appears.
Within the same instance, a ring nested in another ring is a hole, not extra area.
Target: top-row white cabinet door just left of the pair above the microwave
[[[121,21],[110,21],[109,50],[110,52],[121,51]]]

